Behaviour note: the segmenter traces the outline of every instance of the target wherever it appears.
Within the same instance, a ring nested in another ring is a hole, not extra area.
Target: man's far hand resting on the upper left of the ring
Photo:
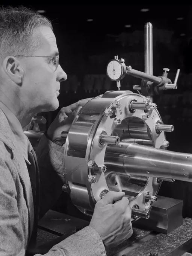
[[[61,132],[70,130],[71,123],[80,111],[80,109],[92,98],[82,99],[68,107],[60,109],[54,121],[48,128],[47,136],[54,142],[61,139]]]

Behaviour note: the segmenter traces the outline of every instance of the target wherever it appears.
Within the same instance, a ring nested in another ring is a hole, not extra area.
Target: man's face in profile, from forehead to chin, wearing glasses
[[[56,56],[56,38],[50,27],[39,27],[36,33],[40,34],[42,46],[33,55]],[[56,69],[55,59],[46,57],[22,58],[21,65],[24,70],[22,96],[27,99],[27,105],[29,104],[26,107],[34,108],[38,112],[56,110],[59,107],[57,97],[60,82],[67,79],[60,65]]]

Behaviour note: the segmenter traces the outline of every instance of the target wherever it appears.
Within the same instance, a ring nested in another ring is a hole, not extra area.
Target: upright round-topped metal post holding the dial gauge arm
[[[144,45],[145,45],[145,73],[153,75],[153,26],[147,22],[144,26]],[[148,96],[153,102],[153,98]]]

